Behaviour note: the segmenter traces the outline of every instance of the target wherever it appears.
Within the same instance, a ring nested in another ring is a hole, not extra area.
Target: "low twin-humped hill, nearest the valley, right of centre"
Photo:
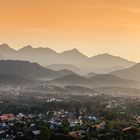
[[[84,86],[84,87],[129,87],[137,83],[132,80],[123,79],[112,74],[99,74],[91,78],[85,78],[76,74],[60,77],[48,82],[50,85],[61,86]]]

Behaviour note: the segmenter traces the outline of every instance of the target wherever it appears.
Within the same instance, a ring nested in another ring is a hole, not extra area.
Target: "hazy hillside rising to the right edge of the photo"
[[[112,74],[122,78],[140,81],[140,63],[137,63],[134,66],[127,69],[114,71],[112,72]]]

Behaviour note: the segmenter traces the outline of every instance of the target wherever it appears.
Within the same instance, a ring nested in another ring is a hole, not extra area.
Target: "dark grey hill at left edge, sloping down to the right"
[[[5,81],[6,83],[8,81],[13,83],[43,81],[69,74],[75,73],[70,70],[53,71],[28,61],[0,61],[0,81]]]

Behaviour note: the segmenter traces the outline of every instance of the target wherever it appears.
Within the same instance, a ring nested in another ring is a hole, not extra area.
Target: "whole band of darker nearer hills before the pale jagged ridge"
[[[73,71],[63,69],[54,71],[42,67],[38,63],[19,60],[0,60],[1,84],[34,84],[44,83],[60,86],[83,87],[135,87],[139,85],[140,64],[129,69],[115,71],[110,74],[79,75]],[[124,75],[126,73],[126,75]]]

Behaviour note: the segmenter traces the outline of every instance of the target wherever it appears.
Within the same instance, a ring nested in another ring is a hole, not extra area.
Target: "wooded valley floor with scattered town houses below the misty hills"
[[[1,87],[0,139],[138,140],[139,90],[127,90]]]

